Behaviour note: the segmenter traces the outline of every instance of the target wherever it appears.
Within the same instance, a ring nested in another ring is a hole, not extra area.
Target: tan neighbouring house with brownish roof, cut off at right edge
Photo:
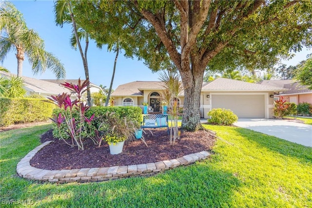
[[[300,85],[296,80],[263,80],[260,84],[287,89],[284,92],[275,94],[275,99],[283,96],[287,102],[297,105],[303,102],[312,103],[312,90],[309,90],[307,86]]]

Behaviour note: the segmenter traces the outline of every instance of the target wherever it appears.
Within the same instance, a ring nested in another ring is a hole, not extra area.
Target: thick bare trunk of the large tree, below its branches
[[[199,108],[204,71],[199,64],[192,65],[192,70],[180,71],[184,87],[182,128],[188,131],[197,131],[202,128]]]

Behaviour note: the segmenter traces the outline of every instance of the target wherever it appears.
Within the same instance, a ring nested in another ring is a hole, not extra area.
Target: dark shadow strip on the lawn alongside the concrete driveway
[[[312,163],[312,148],[296,144],[284,139],[270,136],[253,130],[234,128],[234,131],[243,136],[246,140],[254,141],[271,151],[278,152],[285,156],[291,156],[305,163]]]

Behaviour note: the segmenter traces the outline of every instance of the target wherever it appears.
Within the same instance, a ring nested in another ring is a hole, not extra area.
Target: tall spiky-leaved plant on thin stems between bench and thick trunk
[[[179,108],[177,96],[181,93],[183,85],[180,81],[180,76],[174,71],[168,71],[167,74],[165,72],[159,74],[159,80],[162,81],[161,85],[165,88],[162,97],[163,102],[165,105],[168,105],[168,114],[171,115],[170,143],[172,144],[180,137],[177,120],[183,109]]]

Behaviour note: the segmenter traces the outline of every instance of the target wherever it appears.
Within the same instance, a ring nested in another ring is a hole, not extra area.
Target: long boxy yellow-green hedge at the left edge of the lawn
[[[0,98],[0,125],[45,121],[55,106],[34,98]]]

